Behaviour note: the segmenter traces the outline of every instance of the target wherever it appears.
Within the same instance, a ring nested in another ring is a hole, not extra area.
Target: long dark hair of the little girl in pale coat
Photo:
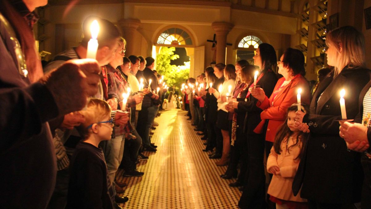
[[[308,106],[302,104],[301,107],[302,107],[303,112],[309,113]],[[287,120],[288,120],[287,115],[289,114],[289,112],[291,112],[291,111],[296,112],[297,110],[298,110],[298,106],[296,106],[296,105],[295,106],[294,105],[290,106],[289,109],[287,110],[285,122],[278,128],[278,131],[277,131],[276,136],[275,136],[275,142],[273,143],[273,147],[274,147],[275,152],[277,154],[280,154],[281,151],[282,151],[281,150],[281,144],[282,144],[283,140],[285,138],[289,138],[293,134],[293,132],[290,130],[289,126],[287,126]],[[287,151],[290,153],[290,148],[291,147],[300,146],[299,155],[294,160],[296,160],[298,158],[302,158],[302,155],[303,155],[303,152],[304,152],[304,149],[305,149],[305,144],[308,141],[308,139],[309,139],[309,133],[299,132],[298,136],[296,136],[295,143],[293,145],[291,145],[290,147],[287,147]]]

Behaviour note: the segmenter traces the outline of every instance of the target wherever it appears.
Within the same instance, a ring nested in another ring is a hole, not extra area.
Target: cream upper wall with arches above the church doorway
[[[283,0],[284,11],[289,8],[286,1],[288,0]],[[275,3],[270,4],[272,9],[275,5]],[[47,36],[50,38],[46,41],[43,50],[55,55],[62,48],[77,45],[81,34],[79,27],[89,15],[97,15],[113,23],[119,22],[122,18],[139,19],[141,24],[135,32],[134,41],[128,42],[128,45],[134,44],[134,54],[142,56],[151,55],[152,45],[157,40],[156,36],[159,32],[170,25],[181,25],[193,36],[195,47],[203,45],[206,47],[205,67],[210,64],[214,54],[214,51],[211,51],[211,43],[206,41],[213,39],[215,33],[211,28],[213,22],[231,22],[235,25],[227,36],[227,42],[233,44],[227,47],[227,63],[234,63],[233,50],[244,35],[256,35],[282,53],[283,49],[291,45],[292,39],[288,37],[295,34],[297,29],[295,17],[237,10],[226,6],[151,3],[75,5],[72,9],[67,6],[48,6],[46,19],[50,23],[46,27]],[[62,24],[65,29],[63,43],[59,41],[55,43],[56,24]],[[125,37],[125,31],[123,32]]]

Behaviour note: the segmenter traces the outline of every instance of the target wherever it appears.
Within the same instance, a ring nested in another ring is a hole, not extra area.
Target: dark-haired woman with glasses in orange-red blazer
[[[311,98],[308,81],[304,78],[304,55],[301,51],[293,48],[286,49],[277,65],[278,73],[283,77],[277,81],[269,99],[263,89],[251,90],[251,95],[259,100],[256,106],[263,110],[260,113],[262,121],[254,132],[266,133],[266,155],[270,153],[278,127],[285,122],[287,109],[298,102],[298,89],[302,89],[301,103],[309,104]]]

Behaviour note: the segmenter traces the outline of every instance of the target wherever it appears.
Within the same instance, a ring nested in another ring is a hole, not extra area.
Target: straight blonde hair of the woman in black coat
[[[326,35],[326,45],[334,46],[338,52],[336,55],[338,66],[334,66],[334,76],[345,66],[349,68],[365,66],[365,38],[354,27],[344,26],[330,31]]]

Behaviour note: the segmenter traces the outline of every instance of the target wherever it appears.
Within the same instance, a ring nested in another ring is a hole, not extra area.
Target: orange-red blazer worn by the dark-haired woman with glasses
[[[262,121],[256,126],[254,132],[262,134],[265,120],[269,120],[265,140],[270,142],[275,141],[277,129],[285,122],[287,109],[292,104],[298,103],[297,95],[299,88],[302,88],[301,103],[306,105],[310,104],[311,92],[309,90],[309,84],[302,75],[296,75],[278,94],[275,94],[274,92],[281,87],[283,81],[285,81],[284,77],[277,81],[272,96],[270,96],[269,99],[265,97],[263,102],[257,102],[256,104],[263,112],[260,113]]]

